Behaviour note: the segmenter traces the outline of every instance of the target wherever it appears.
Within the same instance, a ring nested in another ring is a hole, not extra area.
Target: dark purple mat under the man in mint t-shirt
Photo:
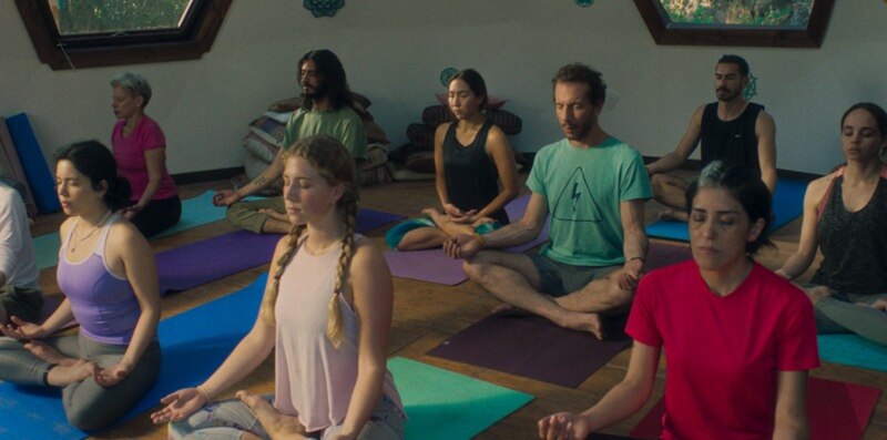
[[[497,314],[459,331],[428,355],[577,388],[629,345],[619,329],[604,340],[531,315]]]

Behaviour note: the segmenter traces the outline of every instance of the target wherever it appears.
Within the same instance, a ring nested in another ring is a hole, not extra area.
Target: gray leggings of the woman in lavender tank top
[[[126,346],[102,344],[79,335],[41,340],[74,359],[88,359],[102,368],[113,367],[126,351]],[[91,377],[62,389],[62,406],[71,426],[92,431],[108,427],[123,417],[157,380],[161,351],[155,340],[139,364],[118,385],[104,388]],[[0,337],[0,380],[13,383],[45,386],[43,376],[49,362],[31,355],[21,342]]]

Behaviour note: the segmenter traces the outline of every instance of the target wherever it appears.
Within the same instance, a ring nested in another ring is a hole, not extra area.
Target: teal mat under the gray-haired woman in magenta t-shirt
[[[246,197],[245,199],[261,199],[261,197]],[[181,231],[221,221],[225,218],[226,211],[227,208],[224,206],[213,205],[213,192],[207,191],[196,197],[182,201],[182,217],[179,223],[153,238],[165,237]],[[39,269],[42,270],[59,264],[61,238],[58,232],[34,237],[33,243]]]

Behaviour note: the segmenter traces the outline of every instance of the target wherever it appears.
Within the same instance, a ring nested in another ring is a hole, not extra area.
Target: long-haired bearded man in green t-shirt
[[[284,170],[281,154],[289,150],[296,141],[315,134],[326,134],[345,145],[358,170],[366,161],[367,136],[364,123],[351,109],[351,92],[339,59],[329,50],[315,50],[302,57],[298,69],[302,104],[286,123],[283,149],[253,182],[237,191],[221,191],[213,197],[216,205],[230,206],[227,217],[231,223],[257,234],[286,234],[293,228],[286,217],[283,197],[239,201],[281,178]]]

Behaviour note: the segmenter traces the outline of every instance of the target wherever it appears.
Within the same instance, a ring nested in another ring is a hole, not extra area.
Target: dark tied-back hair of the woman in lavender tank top
[[[102,202],[110,209],[116,211],[130,204],[130,181],[118,175],[114,155],[101,142],[93,140],[65,145],[55,152],[55,165],[61,161],[71,162],[80,174],[89,177],[93,191],[101,190],[104,181],[108,191]]]

